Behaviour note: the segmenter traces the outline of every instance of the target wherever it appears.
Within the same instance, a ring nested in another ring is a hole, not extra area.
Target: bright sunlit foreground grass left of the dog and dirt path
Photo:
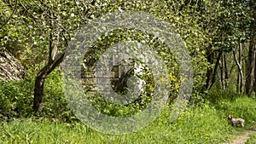
[[[174,122],[161,115],[147,128],[127,135],[106,135],[84,124],[49,120],[18,119],[2,127],[0,143],[219,143],[232,131],[211,108],[191,108]]]

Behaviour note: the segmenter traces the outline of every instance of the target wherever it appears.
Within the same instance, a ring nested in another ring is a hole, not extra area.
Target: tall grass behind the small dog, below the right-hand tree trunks
[[[230,91],[211,91],[208,100],[218,110],[221,117],[231,114],[235,118],[244,118],[246,128],[256,129],[256,98],[247,98]]]

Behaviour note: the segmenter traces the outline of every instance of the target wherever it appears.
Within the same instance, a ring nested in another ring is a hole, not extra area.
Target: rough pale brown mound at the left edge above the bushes
[[[25,78],[25,68],[6,50],[0,50],[0,79],[3,81],[21,80]]]

